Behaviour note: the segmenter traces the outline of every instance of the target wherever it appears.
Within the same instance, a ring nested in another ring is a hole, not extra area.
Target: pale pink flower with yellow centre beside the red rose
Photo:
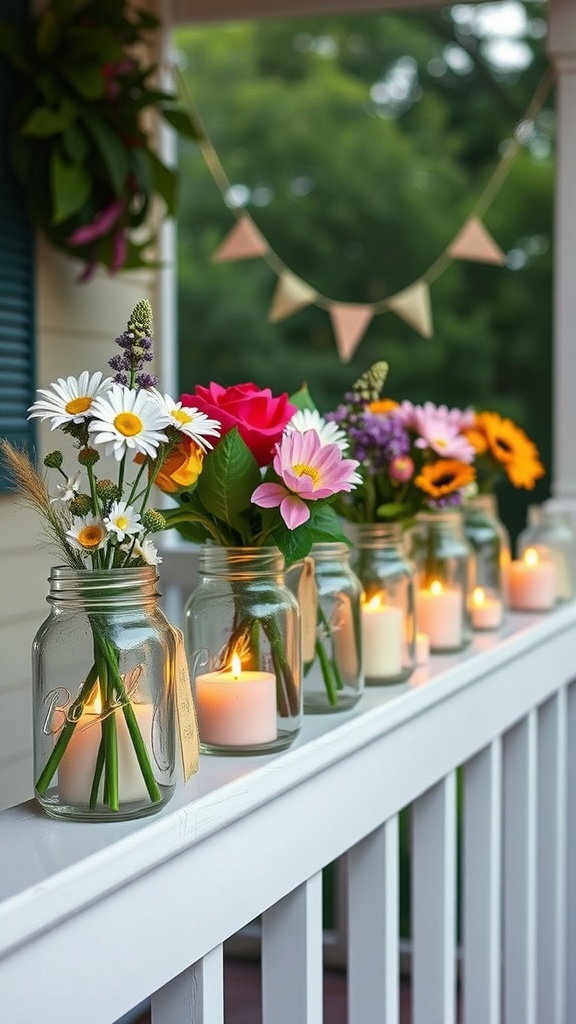
[[[282,483],[260,483],[252,501],[260,508],[280,508],[288,529],[310,519],[306,501],[332,498],[361,482],[356,459],[344,459],[337,444],[323,444],[316,430],[285,434],[276,445],[274,469]]]

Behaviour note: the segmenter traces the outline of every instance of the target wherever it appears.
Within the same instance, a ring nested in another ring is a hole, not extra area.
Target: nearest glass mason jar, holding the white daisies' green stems
[[[34,639],[36,798],[53,817],[159,811],[175,784],[175,640],[154,566],[50,570]]]

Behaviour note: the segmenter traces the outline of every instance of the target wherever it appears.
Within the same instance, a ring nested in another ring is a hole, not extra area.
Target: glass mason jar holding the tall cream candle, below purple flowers
[[[362,601],[362,664],[368,686],[401,683],[416,665],[414,565],[400,523],[347,523]]]

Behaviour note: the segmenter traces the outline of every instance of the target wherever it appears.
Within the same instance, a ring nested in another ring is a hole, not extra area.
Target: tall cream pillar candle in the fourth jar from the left
[[[375,594],[362,605],[362,662],[367,679],[394,679],[402,674],[404,614]]]

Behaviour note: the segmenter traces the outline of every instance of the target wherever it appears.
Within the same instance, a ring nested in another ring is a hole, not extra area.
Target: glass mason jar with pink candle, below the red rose
[[[184,634],[206,754],[271,754],[302,713],[300,614],[276,547],[200,549]]]

